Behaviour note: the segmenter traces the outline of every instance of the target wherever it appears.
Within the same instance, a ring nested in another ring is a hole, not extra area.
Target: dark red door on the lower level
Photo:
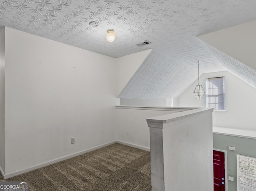
[[[213,151],[214,191],[225,191],[225,156],[224,152]]]

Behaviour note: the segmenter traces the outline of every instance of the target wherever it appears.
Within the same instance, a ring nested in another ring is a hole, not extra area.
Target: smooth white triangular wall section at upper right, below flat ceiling
[[[256,70],[256,20],[199,36],[206,43]]]

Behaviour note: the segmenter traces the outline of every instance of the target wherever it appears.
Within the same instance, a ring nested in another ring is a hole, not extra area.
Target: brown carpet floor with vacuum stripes
[[[16,177],[30,191],[151,191],[150,152],[112,144]]]

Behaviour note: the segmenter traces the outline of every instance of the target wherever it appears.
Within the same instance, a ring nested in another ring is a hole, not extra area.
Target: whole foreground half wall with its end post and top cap
[[[152,191],[213,191],[212,108],[148,118]]]

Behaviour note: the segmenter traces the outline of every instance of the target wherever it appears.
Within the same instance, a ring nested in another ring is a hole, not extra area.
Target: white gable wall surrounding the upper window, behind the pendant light
[[[206,78],[222,76],[225,77],[226,111],[213,112],[213,126],[255,130],[256,89],[228,71],[203,74],[200,77],[200,84],[206,91]],[[202,100],[197,100],[193,94],[196,85],[197,81],[182,93],[178,98],[178,106],[206,107],[206,96],[204,95]]]

